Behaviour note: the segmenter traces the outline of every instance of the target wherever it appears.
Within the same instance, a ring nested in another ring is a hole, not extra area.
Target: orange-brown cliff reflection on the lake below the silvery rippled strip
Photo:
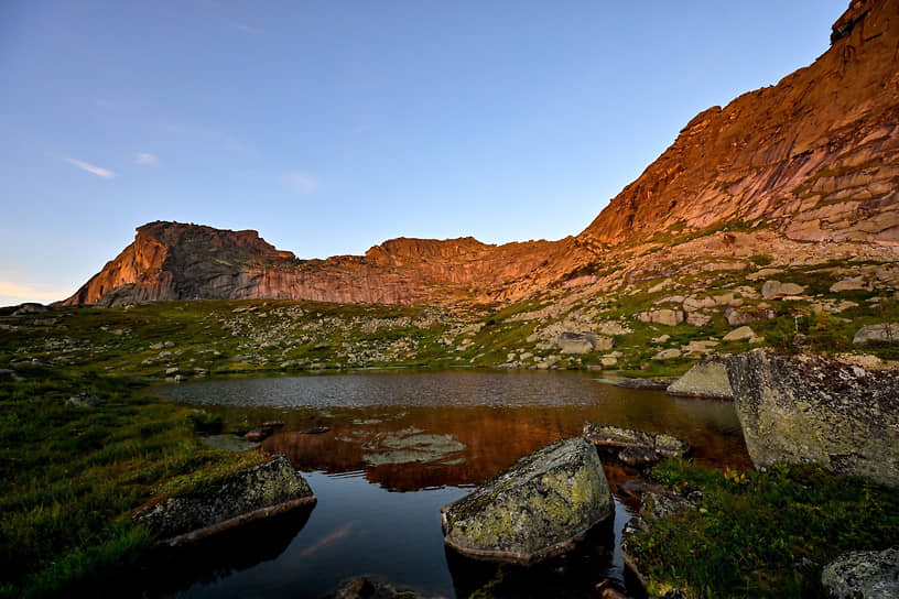
[[[608,403],[572,407],[372,407],[329,410],[290,423],[263,449],[286,454],[303,470],[365,470],[368,480],[397,491],[478,484],[516,459],[563,437],[581,434],[595,420],[682,436],[700,461],[749,467],[736,416],[727,404],[672,402]],[[686,409],[684,409],[686,406]],[[700,407],[698,414],[695,410]],[[730,412],[730,416],[727,412]],[[327,433],[296,432],[325,424]]]

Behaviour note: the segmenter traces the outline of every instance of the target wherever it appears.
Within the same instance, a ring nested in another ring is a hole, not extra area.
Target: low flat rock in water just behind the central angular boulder
[[[594,422],[584,424],[584,438],[604,454],[635,467],[650,466],[662,458],[683,457],[693,449],[689,443],[670,435],[653,435]]]

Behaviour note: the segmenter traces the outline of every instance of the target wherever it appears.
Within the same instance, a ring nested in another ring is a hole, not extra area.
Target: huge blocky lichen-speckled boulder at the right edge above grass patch
[[[755,350],[726,359],[757,467],[819,464],[899,484],[899,373]]]

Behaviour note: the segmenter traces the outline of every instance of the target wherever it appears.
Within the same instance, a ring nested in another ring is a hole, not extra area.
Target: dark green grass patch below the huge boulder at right
[[[669,460],[653,476],[702,499],[629,542],[651,592],[676,586],[691,597],[815,596],[827,562],[899,538],[896,489],[815,467],[718,472]]]

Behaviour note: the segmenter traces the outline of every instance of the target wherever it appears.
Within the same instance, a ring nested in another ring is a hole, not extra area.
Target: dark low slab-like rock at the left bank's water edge
[[[305,479],[285,456],[275,456],[214,488],[140,510],[132,520],[161,543],[176,546],[312,503],[315,495]]]

